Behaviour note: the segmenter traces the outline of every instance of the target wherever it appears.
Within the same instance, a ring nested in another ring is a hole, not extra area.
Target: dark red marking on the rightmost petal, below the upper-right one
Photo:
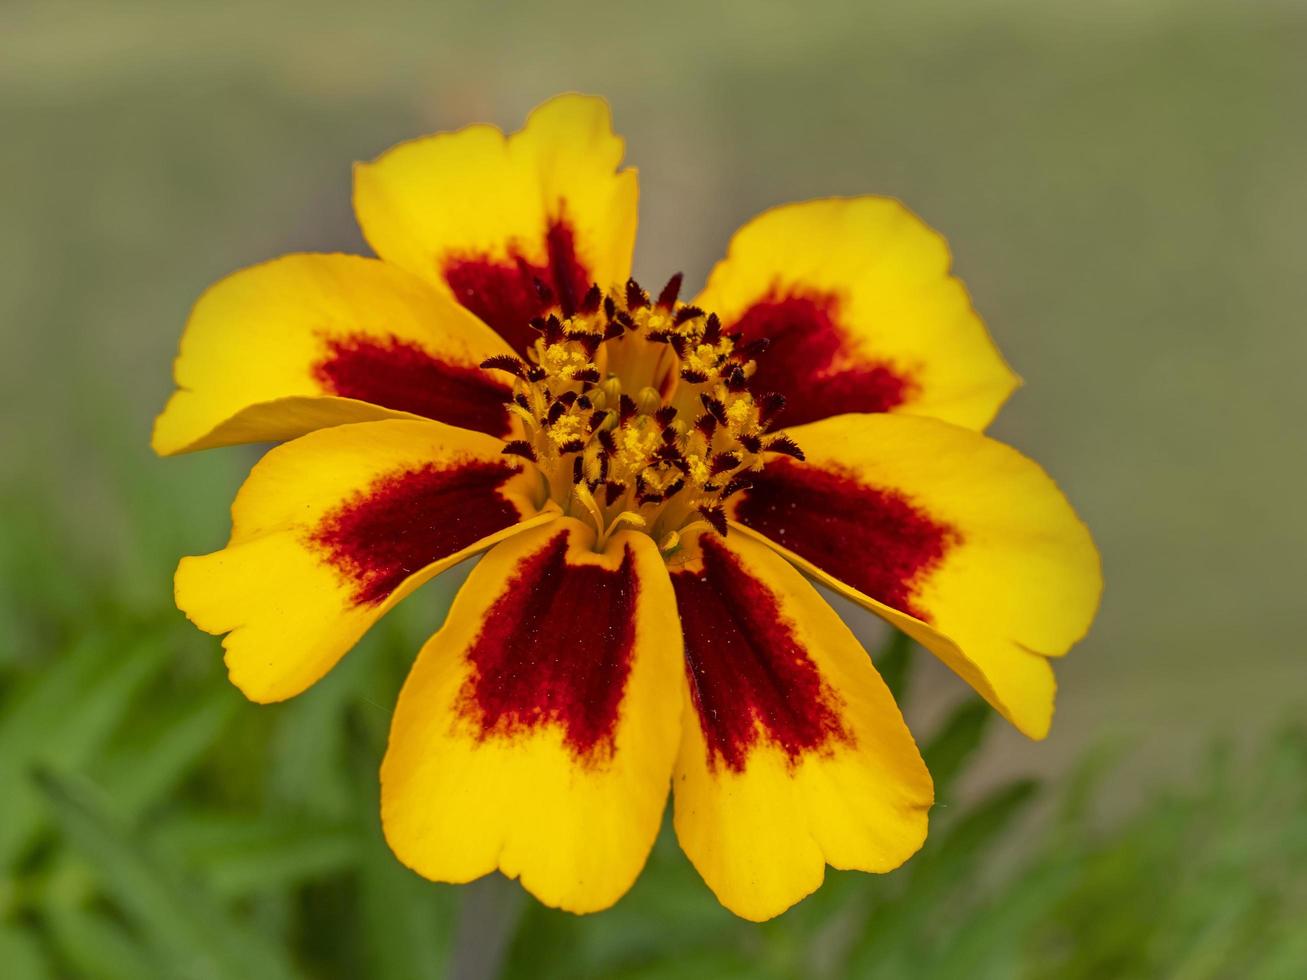
[[[902,494],[838,469],[767,463],[735,519],[825,572],[899,612],[931,622],[918,587],[962,540]]]

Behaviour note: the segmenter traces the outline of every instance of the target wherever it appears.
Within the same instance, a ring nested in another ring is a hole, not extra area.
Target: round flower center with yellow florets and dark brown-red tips
[[[591,286],[571,316],[531,321],[540,336],[527,359],[481,365],[514,378],[521,438],[505,452],[540,468],[563,514],[593,521],[596,547],[621,527],[664,554],[697,524],[724,534],[723,504],[749,487],[763,452],[802,459],[767,431],[784,397],[749,389],[766,340],[741,342],[716,314],[680,302],[680,274],[657,299],[635,280],[620,294]]]

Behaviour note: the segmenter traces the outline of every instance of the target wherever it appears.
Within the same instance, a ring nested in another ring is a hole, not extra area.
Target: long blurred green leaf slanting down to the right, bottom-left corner
[[[163,963],[167,976],[293,976],[281,950],[229,916],[199,882],[159,862],[141,835],[115,818],[89,784],[48,770],[37,780],[59,826]]]

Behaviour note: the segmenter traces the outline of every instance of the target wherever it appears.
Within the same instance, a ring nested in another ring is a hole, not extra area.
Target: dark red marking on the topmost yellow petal
[[[538,336],[529,327],[531,319],[555,303],[565,316],[571,316],[591,286],[589,270],[576,257],[572,227],[563,218],[549,225],[545,255],[545,265],[533,265],[512,244],[507,260],[454,256],[446,259],[442,272],[455,299],[525,354]],[[553,302],[541,298],[536,280],[553,290]]]

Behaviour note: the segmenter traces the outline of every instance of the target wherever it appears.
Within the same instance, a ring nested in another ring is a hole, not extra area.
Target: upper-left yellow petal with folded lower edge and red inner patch
[[[229,276],[196,303],[154,449],[418,416],[507,435],[511,392],[477,367],[506,353],[485,324],[401,269],[288,255]]]

